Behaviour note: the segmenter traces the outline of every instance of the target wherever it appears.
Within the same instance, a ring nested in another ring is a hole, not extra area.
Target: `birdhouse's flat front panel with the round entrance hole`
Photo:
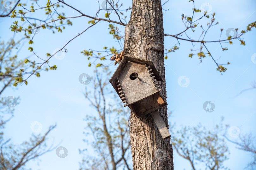
[[[144,64],[128,61],[118,78],[127,104],[139,101],[157,91]]]

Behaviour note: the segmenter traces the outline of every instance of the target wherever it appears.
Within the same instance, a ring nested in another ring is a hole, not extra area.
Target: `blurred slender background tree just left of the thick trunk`
[[[117,96],[114,96],[113,92],[109,93],[109,76],[110,72],[107,68],[103,68],[102,71],[96,69],[93,79],[94,90],[85,92],[86,99],[98,114],[87,115],[85,119],[91,131],[86,136],[92,135],[94,139],[87,143],[92,143],[94,155],[97,156],[93,158],[90,156],[90,161],[83,159],[84,161],[80,163],[81,170],[116,170],[119,167],[131,170],[128,164],[128,160],[131,159],[129,156],[131,143],[127,121],[130,113],[119,100],[116,100]],[[80,153],[83,153],[82,150]]]

